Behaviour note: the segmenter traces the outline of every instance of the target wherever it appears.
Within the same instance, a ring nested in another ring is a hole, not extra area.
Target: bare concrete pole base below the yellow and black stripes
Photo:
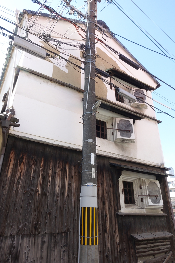
[[[80,245],[80,263],[98,263],[98,245]]]

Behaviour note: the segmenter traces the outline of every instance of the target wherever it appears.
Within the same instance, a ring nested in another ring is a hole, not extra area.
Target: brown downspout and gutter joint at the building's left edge
[[[10,122],[10,119],[12,118],[12,116],[13,116],[13,112],[9,112],[6,120],[0,120],[0,124],[2,128],[2,151],[1,151],[1,156],[0,156],[0,173],[1,173],[2,163],[4,159],[4,153],[6,150],[6,131],[10,126],[13,126],[13,127],[20,126],[20,124]]]

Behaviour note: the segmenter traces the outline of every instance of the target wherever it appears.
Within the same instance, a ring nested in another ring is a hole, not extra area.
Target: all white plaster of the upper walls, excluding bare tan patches
[[[46,18],[40,17],[39,24],[44,24]],[[43,29],[38,25],[35,30]],[[66,35],[64,36],[65,32]],[[56,33],[59,32],[59,33]],[[59,21],[52,37],[64,40],[66,36],[69,36],[72,32],[72,40],[78,40],[83,42],[74,26],[70,27],[70,23]],[[101,34],[96,32],[98,37],[101,38]],[[31,39],[38,44],[41,44],[39,38],[31,36]],[[108,44],[113,46],[114,49],[121,52],[126,57],[132,57],[114,40],[108,39]],[[97,46],[107,53],[112,59],[117,60],[118,65],[127,74],[135,77],[147,84],[156,87],[157,83],[146,73],[141,70],[135,70],[126,63],[118,59],[118,56],[110,52],[104,45],[98,43]],[[65,49],[66,54],[72,54],[77,57],[80,56],[79,49]],[[52,59],[53,60],[53,59]],[[30,54],[19,51],[17,64],[33,69],[45,75],[52,76],[53,63],[43,59],[38,59]],[[10,84],[10,76],[13,68],[13,59],[10,60],[7,74],[4,78],[4,82],[1,88],[0,96],[7,92]],[[83,74],[82,74],[83,76]],[[82,77],[83,87],[83,77]],[[115,93],[110,90],[109,85],[107,99],[115,101]],[[147,92],[146,95],[151,97],[151,93]],[[64,147],[71,147],[75,149],[82,149],[82,129],[83,125],[81,116],[83,113],[83,93],[76,90],[61,86],[59,84],[50,82],[44,78],[36,75],[20,71],[16,87],[12,95],[12,104],[15,108],[16,116],[20,118],[20,127],[14,130],[10,129],[9,133],[14,135],[28,138],[32,140],[42,141],[45,143],[51,143]],[[152,104],[152,100],[147,98],[147,102]],[[131,106],[116,102],[119,105],[133,109]],[[155,113],[149,107],[148,109],[135,109],[138,112],[143,112],[147,115],[155,117]],[[110,112],[99,108],[99,114],[97,118],[107,121],[108,127],[111,128],[110,122],[112,117],[122,117],[122,115]],[[123,118],[125,118],[123,116]],[[138,161],[141,163],[147,163],[152,165],[163,166],[163,154],[160,143],[160,136],[158,133],[157,122],[150,119],[142,119],[136,121],[134,124],[135,132],[135,144],[131,143],[114,143],[112,130],[108,130],[108,140],[97,138],[97,154],[112,156],[114,158],[121,158],[126,160]]]

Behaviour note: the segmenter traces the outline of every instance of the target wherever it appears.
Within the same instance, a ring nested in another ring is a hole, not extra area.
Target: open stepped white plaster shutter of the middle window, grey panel
[[[135,143],[134,124],[132,119],[112,118],[112,122],[115,142]]]

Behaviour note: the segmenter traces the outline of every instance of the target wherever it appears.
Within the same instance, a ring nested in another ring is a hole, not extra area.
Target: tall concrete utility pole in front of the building
[[[98,263],[96,115],[92,113],[96,103],[95,0],[88,0],[85,57],[80,263]]]

